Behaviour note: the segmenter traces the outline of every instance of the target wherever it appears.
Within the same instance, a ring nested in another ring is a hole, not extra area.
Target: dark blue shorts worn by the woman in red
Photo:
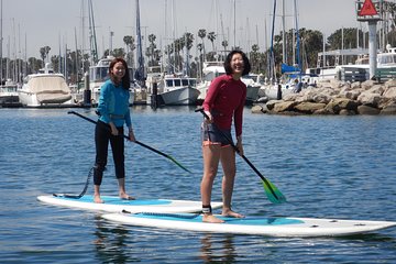
[[[226,138],[226,136],[227,138]],[[202,123],[201,125],[201,140],[202,146],[206,145],[221,145],[229,146],[232,142],[231,130],[220,130],[215,124]]]

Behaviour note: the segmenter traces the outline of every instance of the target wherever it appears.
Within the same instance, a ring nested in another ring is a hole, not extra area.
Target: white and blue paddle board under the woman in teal
[[[99,210],[107,212],[121,212],[128,210],[130,212],[198,212],[202,210],[201,201],[193,200],[167,200],[167,199],[136,199],[124,200],[114,196],[101,196],[105,202],[94,202],[94,196],[86,195],[80,198],[70,198],[63,195],[38,196],[40,201],[79,208],[88,210]],[[221,208],[222,202],[212,202],[213,208]]]

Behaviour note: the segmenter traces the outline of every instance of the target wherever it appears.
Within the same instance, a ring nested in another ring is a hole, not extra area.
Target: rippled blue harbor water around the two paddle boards
[[[96,118],[92,110],[78,109]],[[128,189],[140,198],[199,200],[201,154],[194,108],[133,108],[138,140],[193,174],[127,143]],[[36,196],[79,194],[92,166],[94,124],[67,109],[0,109],[1,263],[395,263],[396,229],[349,238],[227,235],[107,222]],[[233,207],[249,216],[396,221],[396,117],[278,117],[245,111],[249,160],[288,198],[275,206],[238,160]],[[91,194],[92,186],[89,186]],[[102,193],[117,195],[112,162]],[[220,200],[220,177],[213,188]]]

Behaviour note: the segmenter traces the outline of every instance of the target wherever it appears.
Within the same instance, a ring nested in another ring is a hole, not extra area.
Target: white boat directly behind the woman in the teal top
[[[114,59],[113,56],[107,56],[106,58],[99,59],[97,65],[89,67],[89,89],[91,90],[91,103],[97,105],[100,97],[100,88],[109,77],[109,66],[111,61]],[[134,90],[133,90],[133,70],[131,67],[128,68],[131,77],[131,88],[130,88],[130,105],[133,105],[134,100]]]

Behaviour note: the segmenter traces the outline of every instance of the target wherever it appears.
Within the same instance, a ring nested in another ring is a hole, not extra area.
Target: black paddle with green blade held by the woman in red
[[[204,114],[204,117],[206,119],[209,120],[208,114],[204,111],[204,108],[198,108],[195,110],[196,112],[201,112]],[[228,138],[228,135],[226,135],[221,130],[219,130],[221,135],[224,136],[224,139],[230,143],[230,145],[235,150],[237,153],[239,153],[238,147],[234,145],[234,143],[232,142],[231,139]],[[264,186],[264,190],[265,194],[268,198],[270,201],[274,202],[274,204],[282,204],[286,201],[286,197],[280,193],[280,190],[278,190],[278,188],[276,188],[275,185],[273,185],[267,178],[265,178],[260,172],[258,169],[248,160],[248,157],[245,157],[244,155],[240,155],[243,161],[245,161],[249,166],[251,168],[253,168],[253,170],[260,176],[260,178],[263,180],[263,186]]]

